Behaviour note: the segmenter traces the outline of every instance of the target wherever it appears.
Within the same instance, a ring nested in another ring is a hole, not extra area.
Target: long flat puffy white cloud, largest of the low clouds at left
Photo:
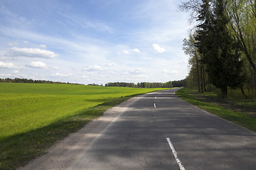
[[[41,50],[39,48],[19,48],[12,47],[7,53],[11,57],[41,57],[41,58],[54,58],[58,57],[58,54],[54,52]]]

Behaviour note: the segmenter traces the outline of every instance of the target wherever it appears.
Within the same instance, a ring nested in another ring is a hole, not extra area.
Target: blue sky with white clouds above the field
[[[0,78],[79,84],[185,79],[177,0],[1,0]]]

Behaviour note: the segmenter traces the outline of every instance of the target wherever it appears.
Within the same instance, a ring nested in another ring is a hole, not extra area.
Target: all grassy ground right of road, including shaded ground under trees
[[[196,90],[186,88],[176,91],[176,96],[205,111],[218,115],[220,118],[256,132],[255,113],[250,113],[255,109],[254,100],[226,98],[223,101],[215,93],[198,94]]]

